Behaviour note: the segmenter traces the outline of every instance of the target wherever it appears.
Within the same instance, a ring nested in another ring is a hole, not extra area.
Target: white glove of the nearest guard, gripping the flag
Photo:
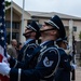
[[[9,76],[11,68],[6,63],[0,63],[0,73],[3,76]]]

